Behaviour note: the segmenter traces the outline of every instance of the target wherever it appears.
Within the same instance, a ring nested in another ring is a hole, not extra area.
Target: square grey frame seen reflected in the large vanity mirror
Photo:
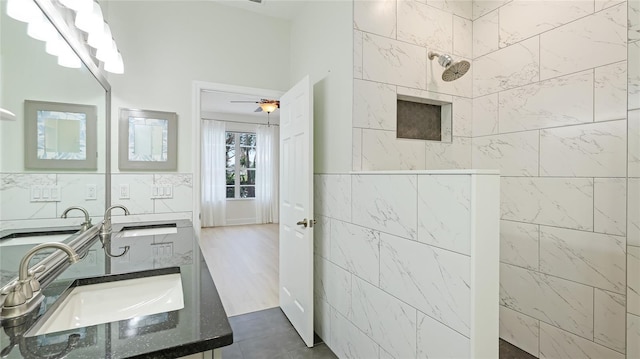
[[[25,100],[25,168],[97,169],[97,107]]]

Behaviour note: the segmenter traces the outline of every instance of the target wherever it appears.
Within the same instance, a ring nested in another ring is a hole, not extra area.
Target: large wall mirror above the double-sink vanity
[[[15,118],[2,116],[0,119],[2,286],[15,275],[20,258],[29,248],[39,242],[65,241],[80,228],[84,221],[82,212],[72,211],[69,218],[62,219],[60,216],[66,208],[86,208],[95,217],[94,223],[102,218],[108,171],[105,130],[109,92],[86,66],[58,65],[57,58],[45,51],[44,42],[27,35],[27,24],[6,15],[7,2],[0,4],[0,107],[15,114]],[[65,115],[63,121],[54,121],[56,116],[60,117],[59,113],[43,114],[46,118],[41,121],[40,135],[47,144],[43,141],[39,144],[38,129],[31,126],[36,124],[37,116],[27,112],[37,110],[32,105],[45,103],[77,105],[51,109],[61,113],[94,109],[95,124],[87,126],[87,122],[70,115]],[[30,125],[28,121],[34,122]],[[95,135],[86,136],[86,131],[93,131]],[[56,166],[56,160],[52,162],[54,165],[32,166],[27,161],[26,140],[33,141],[34,150],[42,145],[49,151],[40,157],[75,156],[96,160],[75,168]],[[43,236],[44,233],[50,235]],[[39,254],[44,255],[46,253]]]

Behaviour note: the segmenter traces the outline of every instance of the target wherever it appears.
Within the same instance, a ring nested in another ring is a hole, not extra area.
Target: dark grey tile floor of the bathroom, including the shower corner
[[[280,308],[229,317],[229,323],[233,328],[234,343],[222,349],[223,359],[337,358],[324,343],[307,348]],[[317,339],[319,342],[320,339]],[[500,340],[500,359],[534,358],[519,348]]]

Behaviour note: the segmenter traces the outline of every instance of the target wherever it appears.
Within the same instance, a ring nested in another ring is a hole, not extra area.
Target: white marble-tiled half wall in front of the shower
[[[314,181],[316,333],[340,358],[470,357],[472,176]]]

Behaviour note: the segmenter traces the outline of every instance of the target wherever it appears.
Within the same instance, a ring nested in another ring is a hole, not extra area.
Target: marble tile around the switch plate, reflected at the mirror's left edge
[[[56,186],[56,175],[5,173],[0,176],[0,212],[3,221],[57,217],[57,202],[31,202],[31,190],[35,186]]]

